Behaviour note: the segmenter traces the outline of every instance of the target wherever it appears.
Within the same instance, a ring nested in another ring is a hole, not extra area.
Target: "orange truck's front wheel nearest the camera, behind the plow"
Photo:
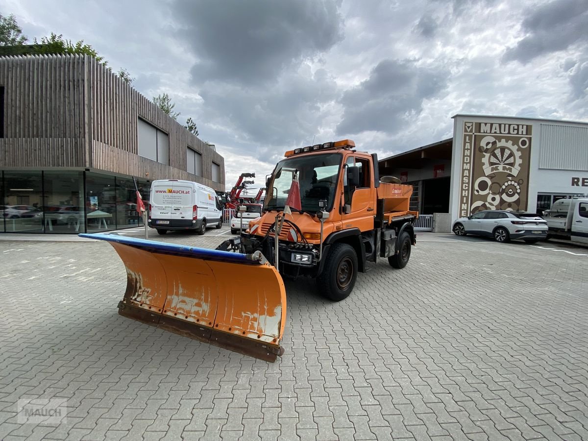
[[[349,297],[358,278],[358,256],[347,243],[335,243],[330,247],[325,267],[316,278],[320,293],[333,302]]]

